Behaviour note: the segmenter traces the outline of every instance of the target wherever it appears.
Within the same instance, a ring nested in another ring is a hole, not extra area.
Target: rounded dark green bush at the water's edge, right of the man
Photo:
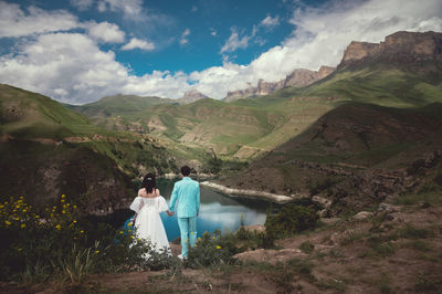
[[[318,220],[319,216],[314,209],[290,203],[276,214],[267,212],[264,225],[267,235],[282,237],[314,229]]]

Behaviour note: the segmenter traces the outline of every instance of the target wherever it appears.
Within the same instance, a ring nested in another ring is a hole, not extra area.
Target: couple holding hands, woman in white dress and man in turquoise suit
[[[190,168],[181,167],[182,179],[173,186],[170,204],[160,196],[155,176],[147,174],[143,180],[143,188],[130,204],[136,212],[134,218],[135,231],[138,238],[150,241],[158,252],[167,250],[170,253],[169,241],[159,212],[166,211],[169,217],[177,211],[178,225],[181,232],[181,254],[179,259],[187,259],[190,246],[197,243],[197,217],[200,210],[200,186],[192,180]]]

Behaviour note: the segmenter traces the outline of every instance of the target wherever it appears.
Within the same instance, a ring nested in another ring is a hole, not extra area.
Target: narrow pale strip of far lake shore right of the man
[[[270,200],[276,203],[287,203],[296,199],[305,198],[303,196],[286,196],[265,191],[234,189],[211,181],[201,181],[200,185],[231,197],[246,197],[253,199]]]

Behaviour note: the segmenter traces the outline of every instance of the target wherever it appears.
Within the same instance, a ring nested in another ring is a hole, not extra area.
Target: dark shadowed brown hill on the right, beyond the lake
[[[318,196],[318,201],[330,206],[329,213],[340,214],[368,209],[401,192],[441,191],[436,183],[441,176],[441,103],[401,109],[352,102],[328,112],[222,182]]]

